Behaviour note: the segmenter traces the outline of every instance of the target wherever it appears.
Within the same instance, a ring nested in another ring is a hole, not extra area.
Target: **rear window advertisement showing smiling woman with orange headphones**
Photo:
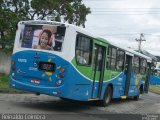
[[[62,51],[65,26],[24,25],[21,27],[21,48]]]

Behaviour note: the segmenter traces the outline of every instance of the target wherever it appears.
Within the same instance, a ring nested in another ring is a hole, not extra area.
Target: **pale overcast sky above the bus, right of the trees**
[[[135,38],[144,34],[142,49],[160,56],[160,0],[83,0],[91,8],[86,29],[121,46],[138,48]]]

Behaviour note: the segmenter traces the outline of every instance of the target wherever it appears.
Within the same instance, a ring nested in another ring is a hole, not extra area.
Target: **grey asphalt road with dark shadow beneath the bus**
[[[120,117],[117,118],[116,115],[121,116],[123,114],[122,118],[124,114],[160,115],[160,95],[154,93],[144,94],[139,101],[117,99],[112,100],[111,104],[107,107],[100,107],[96,102],[64,101],[57,97],[46,95],[0,94],[0,113],[52,114],[49,118],[54,116],[52,119],[56,120],[71,118],[77,120],[107,120],[107,118],[114,117],[114,120],[120,120]],[[123,120],[125,119],[123,118]]]

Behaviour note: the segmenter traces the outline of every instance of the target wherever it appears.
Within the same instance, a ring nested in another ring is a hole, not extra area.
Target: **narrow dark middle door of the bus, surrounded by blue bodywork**
[[[125,89],[124,89],[125,96],[128,96],[128,92],[129,92],[131,69],[132,69],[132,56],[126,55],[126,70],[125,70],[126,82],[125,82]]]

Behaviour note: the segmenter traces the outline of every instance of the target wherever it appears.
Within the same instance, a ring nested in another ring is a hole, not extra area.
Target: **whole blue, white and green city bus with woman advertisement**
[[[103,106],[138,100],[148,88],[151,58],[80,27],[53,21],[18,23],[10,86]]]

